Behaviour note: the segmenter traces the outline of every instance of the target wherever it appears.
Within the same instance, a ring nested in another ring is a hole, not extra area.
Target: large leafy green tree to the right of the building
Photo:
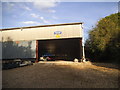
[[[99,20],[85,43],[86,57],[92,61],[120,61],[120,13]]]

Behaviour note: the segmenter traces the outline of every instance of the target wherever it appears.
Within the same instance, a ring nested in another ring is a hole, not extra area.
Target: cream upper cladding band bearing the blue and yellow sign
[[[61,33],[59,33],[61,32]],[[82,37],[81,24],[2,31],[3,41],[45,40]]]

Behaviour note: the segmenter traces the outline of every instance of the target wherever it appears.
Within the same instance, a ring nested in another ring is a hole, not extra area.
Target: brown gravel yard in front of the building
[[[39,62],[3,70],[3,88],[118,88],[118,73],[108,68],[70,61]]]

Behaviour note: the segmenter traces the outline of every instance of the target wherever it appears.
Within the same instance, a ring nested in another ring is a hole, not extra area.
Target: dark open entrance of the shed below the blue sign
[[[81,59],[81,38],[38,40],[38,58],[53,56],[54,60]]]

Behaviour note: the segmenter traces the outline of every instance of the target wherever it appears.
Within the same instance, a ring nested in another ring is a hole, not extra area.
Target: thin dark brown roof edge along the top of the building
[[[63,25],[77,25],[77,24],[83,24],[83,22],[63,23],[63,24],[50,24],[50,25],[39,25],[39,26],[27,26],[27,27],[16,27],[16,28],[5,28],[5,29],[0,29],[0,31],[21,29],[21,28],[22,28],[22,29],[26,29],[26,28],[52,27],[52,26],[63,26]]]

